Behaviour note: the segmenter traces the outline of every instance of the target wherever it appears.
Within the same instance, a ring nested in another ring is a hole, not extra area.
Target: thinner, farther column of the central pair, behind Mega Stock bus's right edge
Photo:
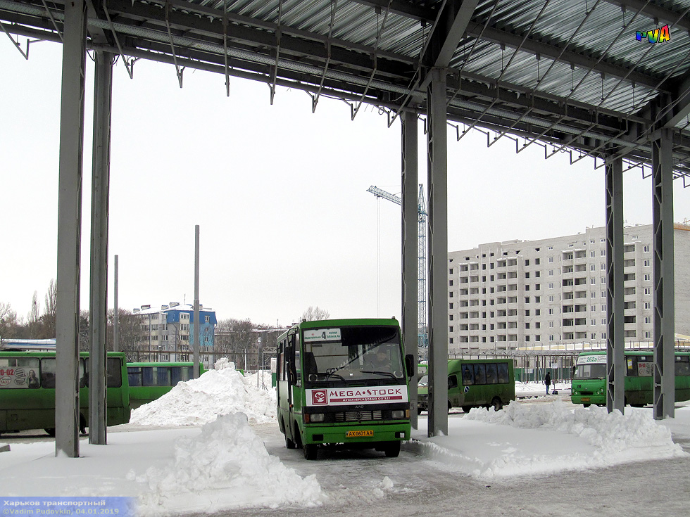
[[[418,312],[417,312],[417,206],[418,149],[417,113],[406,111],[401,118],[402,127],[402,312],[403,343],[405,354],[415,358],[415,368],[410,379],[410,423],[417,428],[417,361],[418,361]]]

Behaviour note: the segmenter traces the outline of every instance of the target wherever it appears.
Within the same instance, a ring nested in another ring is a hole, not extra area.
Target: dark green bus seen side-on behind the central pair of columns
[[[429,376],[418,384],[418,413],[429,409]],[[448,409],[491,407],[496,411],[515,400],[513,359],[449,359]]]

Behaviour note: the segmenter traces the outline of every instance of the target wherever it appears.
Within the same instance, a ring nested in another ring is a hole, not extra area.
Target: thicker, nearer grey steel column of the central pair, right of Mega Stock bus
[[[428,435],[448,434],[448,141],[446,72],[434,68],[427,86],[429,185]]]

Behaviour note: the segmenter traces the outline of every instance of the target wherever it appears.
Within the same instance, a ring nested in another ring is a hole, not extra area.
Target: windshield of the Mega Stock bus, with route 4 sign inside
[[[325,328],[304,332],[308,381],[405,381],[398,329],[391,326]]]

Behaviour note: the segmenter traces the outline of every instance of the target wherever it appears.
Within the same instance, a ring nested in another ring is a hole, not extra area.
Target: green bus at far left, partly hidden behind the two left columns
[[[79,358],[79,427],[89,426],[89,354]],[[55,352],[0,352],[0,433],[44,429],[55,435]],[[108,352],[106,424],[130,421],[125,354]]]

